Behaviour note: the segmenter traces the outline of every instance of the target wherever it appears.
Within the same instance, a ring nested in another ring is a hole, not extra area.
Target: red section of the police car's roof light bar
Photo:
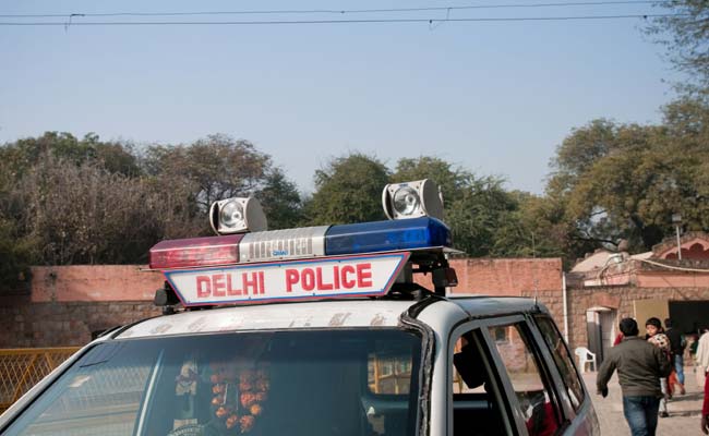
[[[158,242],[151,249],[151,269],[205,267],[239,263],[243,234],[177,239]]]

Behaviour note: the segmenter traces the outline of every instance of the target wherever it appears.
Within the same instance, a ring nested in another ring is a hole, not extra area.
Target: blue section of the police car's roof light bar
[[[325,233],[328,256],[450,244],[448,227],[431,217],[332,226]]]

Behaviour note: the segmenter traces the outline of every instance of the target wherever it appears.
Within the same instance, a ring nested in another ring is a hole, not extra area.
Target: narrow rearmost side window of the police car
[[[551,318],[537,316],[534,319],[562,376],[562,380],[566,387],[566,395],[568,395],[574,410],[578,410],[584,401],[584,385],[574,367],[572,354]]]

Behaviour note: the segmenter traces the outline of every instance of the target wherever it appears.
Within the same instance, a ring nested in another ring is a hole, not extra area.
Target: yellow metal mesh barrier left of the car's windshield
[[[0,413],[79,347],[0,349]]]

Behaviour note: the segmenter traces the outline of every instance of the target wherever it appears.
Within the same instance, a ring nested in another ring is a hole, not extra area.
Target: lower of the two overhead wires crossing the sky
[[[383,19],[383,20],[298,20],[298,21],[136,21],[136,22],[71,22],[73,26],[248,26],[248,25],[302,25],[302,24],[385,24],[385,23],[471,23],[471,22],[550,22],[586,20],[628,20],[687,16],[686,14],[628,14],[577,16],[507,16],[477,19]],[[68,26],[65,22],[0,22],[0,26]]]

